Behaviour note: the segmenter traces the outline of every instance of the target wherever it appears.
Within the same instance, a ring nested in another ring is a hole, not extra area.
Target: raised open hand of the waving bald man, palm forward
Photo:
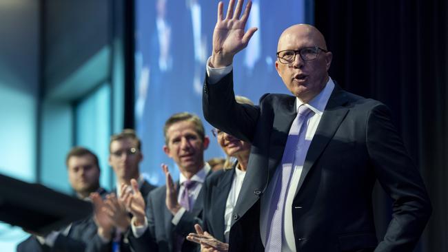
[[[223,2],[218,3],[218,20],[213,32],[213,52],[210,64],[212,67],[225,67],[233,61],[234,55],[243,50],[257,28],[250,28],[245,32],[252,1],[248,1],[243,15],[244,0],[230,0],[227,15],[223,15]]]

